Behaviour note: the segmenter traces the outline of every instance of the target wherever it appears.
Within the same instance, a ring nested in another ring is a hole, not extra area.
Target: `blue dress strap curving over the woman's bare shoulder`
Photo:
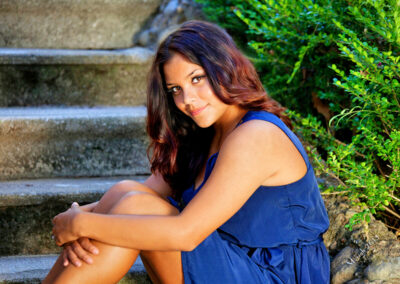
[[[289,137],[289,139],[295,145],[297,150],[300,152],[301,156],[303,157],[303,159],[304,159],[304,161],[305,161],[305,163],[307,165],[307,168],[310,166],[310,161],[308,160],[307,153],[304,150],[304,147],[301,144],[299,138],[275,114],[272,114],[272,113],[264,111],[264,110],[261,110],[261,111],[248,111],[245,114],[245,116],[240,120],[240,122],[238,123],[237,126],[245,123],[246,121],[250,121],[250,120],[254,120],[254,119],[268,121],[268,122],[273,123],[276,126],[278,126]]]

